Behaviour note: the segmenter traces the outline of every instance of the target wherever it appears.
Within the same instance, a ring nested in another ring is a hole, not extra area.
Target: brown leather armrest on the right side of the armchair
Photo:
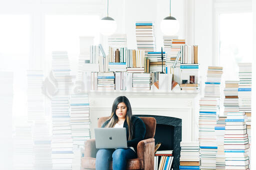
[[[144,160],[144,170],[153,170],[154,139],[142,140],[137,145],[137,158]]]

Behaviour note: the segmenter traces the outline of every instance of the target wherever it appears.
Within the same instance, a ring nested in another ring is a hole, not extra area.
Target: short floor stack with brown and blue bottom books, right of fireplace
[[[179,170],[199,170],[199,142],[180,142]]]

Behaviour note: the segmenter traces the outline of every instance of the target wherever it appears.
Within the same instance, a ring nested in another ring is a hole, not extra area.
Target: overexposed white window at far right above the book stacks
[[[222,80],[238,80],[237,63],[252,62],[252,13],[223,13],[219,21]]]

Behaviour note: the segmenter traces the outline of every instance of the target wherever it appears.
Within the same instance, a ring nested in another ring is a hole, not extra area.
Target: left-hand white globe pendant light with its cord
[[[108,16],[108,0],[107,0],[107,16],[99,21],[99,32],[103,35],[111,35],[116,30],[116,22]]]

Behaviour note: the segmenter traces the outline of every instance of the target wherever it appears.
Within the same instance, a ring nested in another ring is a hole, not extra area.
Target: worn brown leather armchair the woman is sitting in
[[[98,127],[109,117],[101,117],[98,119]],[[154,169],[154,133],[156,120],[151,117],[140,117],[146,127],[144,140],[137,145],[137,158],[130,159],[127,162],[126,170],[153,170]],[[87,140],[84,144],[84,157],[81,159],[81,170],[95,170],[97,149],[95,147],[95,139]],[[112,163],[109,165],[112,170]]]

